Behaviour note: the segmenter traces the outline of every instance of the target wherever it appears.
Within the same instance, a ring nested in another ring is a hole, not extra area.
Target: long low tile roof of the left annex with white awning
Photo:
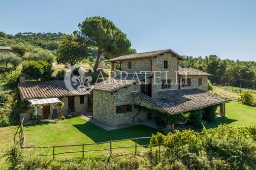
[[[22,99],[85,95],[85,89],[69,91],[64,81],[26,82],[18,85]],[[76,88],[75,88],[76,89]]]

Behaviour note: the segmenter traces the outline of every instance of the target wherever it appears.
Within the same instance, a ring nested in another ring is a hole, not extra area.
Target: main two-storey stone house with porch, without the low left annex
[[[134,105],[171,115],[221,105],[224,115],[224,104],[230,100],[207,92],[207,77],[212,75],[179,68],[181,60],[185,58],[170,49],[106,60],[111,63],[111,71],[115,71],[114,64],[119,64],[128,74],[93,85],[93,118],[120,125],[143,121],[151,114],[140,112]]]

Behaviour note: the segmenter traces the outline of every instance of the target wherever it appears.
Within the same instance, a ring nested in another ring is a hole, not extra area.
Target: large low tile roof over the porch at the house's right
[[[165,103],[153,99],[141,92],[135,91],[132,94],[142,101],[156,106],[165,113],[177,114],[189,112],[195,109],[229,102],[230,99],[212,94],[197,88],[160,91],[160,96],[166,97]]]

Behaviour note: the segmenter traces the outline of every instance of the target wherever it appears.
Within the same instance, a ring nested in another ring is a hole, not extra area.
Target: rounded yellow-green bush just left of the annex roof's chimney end
[[[7,85],[9,88],[16,88],[19,83],[20,76],[21,72],[18,70],[5,73],[5,85]]]

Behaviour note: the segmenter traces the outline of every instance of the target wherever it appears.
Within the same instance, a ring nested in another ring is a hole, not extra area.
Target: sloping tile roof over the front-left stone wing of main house
[[[96,85],[92,85],[90,87],[93,87],[94,89],[100,90],[100,91],[112,92],[120,88],[126,87],[127,85],[131,85],[135,82],[138,82],[138,80],[144,80],[145,78],[151,77],[153,76],[153,74],[151,73],[137,74],[137,76],[136,74],[127,74],[127,75],[124,74],[122,76],[122,79],[121,79],[121,76],[117,76],[115,78],[97,83]]]

